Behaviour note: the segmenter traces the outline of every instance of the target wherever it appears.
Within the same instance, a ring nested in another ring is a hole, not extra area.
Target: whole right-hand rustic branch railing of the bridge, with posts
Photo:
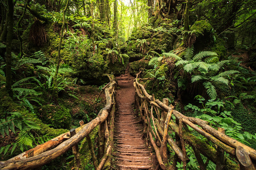
[[[216,164],[216,170],[224,168],[255,170],[253,162],[256,160],[256,150],[228,137],[224,134],[224,129],[222,128],[216,130],[208,125],[207,121],[195,117],[187,117],[174,110],[172,105],[168,106],[168,99],[163,99],[163,102],[155,99],[154,94],[149,95],[144,86],[138,82],[139,75],[140,72],[136,75],[134,82],[134,87],[136,88],[136,110],[138,115],[144,120],[144,132],[147,133],[146,140],[149,137],[154,147],[159,162],[158,168],[160,166],[162,169],[166,169],[168,142],[175,152],[176,160],[179,159],[183,162],[184,169],[186,169],[186,163],[190,161],[186,155],[186,143],[194,150],[201,170],[206,170],[209,160]],[[148,106],[150,106],[150,109]],[[159,109],[162,110],[161,115]],[[153,110],[156,112],[157,118],[154,117]],[[175,116],[175,120],[171,119],[171,115]],[[150,125],[151,119],[154,129]],[[214,143],[216,149],[192,135],[188,126]],[[168,135],[168,130],[175,132],[175,141]],[[156,141],[154,141],[153,136]],[[157,147],[156,142],[160,145],[160,148]],[[226,157],[224,151],[235,158],[239,162],[239,166]],[[202,160],[200,154],[207,157],[206,162]]]

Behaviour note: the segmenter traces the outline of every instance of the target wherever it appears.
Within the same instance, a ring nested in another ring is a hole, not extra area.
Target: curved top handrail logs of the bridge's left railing
[[[110,78],[110,76],[108,77]],[[93,119],[86,125],[83,125],[82,127],[76,128],[76,135],[70,137],[69,132],[63,133],[62,135],[59,135],[58,137],[55,137],[54,139],[51,139],[50,141],[44,144],[38,145],[33,149],[23,152],[22,154],[14,156],[9,160],[0,161],[0,169],[11,170],[11,169],[36,168],[38,166],[42,166],[50,162],[51,160],[64,154],[66,151],[71,149],[74,145],[77,145],[80,141],[82,141],[82,139],[84,139],[87,135],[89,135],[89,133],[97,125],[100,125],[101,123],[105,123],[108,115],[110,115],[109,113],[111,113],[112,111],[112,107],[115,100],[114,99],[115,88],[116,88],[116,82],[112,80],[112,78],[110,78],[110,84],[108,88],[105,87],[106,106],[100,110],[100,112],[98,113],[98,116],[95,119]],[[52,147],[55,147],[55,148],[52,149]],[[111,148],[111,145],[109,145],[108,148]],[[100,166],[101,167],[97,168],[98,170],[102,168],[102,165]]]

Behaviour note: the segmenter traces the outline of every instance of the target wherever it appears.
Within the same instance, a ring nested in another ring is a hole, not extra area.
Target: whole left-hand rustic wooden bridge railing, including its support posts
[[[83,121],[80,121],[81,127],[71,129],[70,132],[64,133],[38,145],[35,148],[27,150],[9,160],[0,161],[0,169],[31,169],[38,166],[42,166],[58,156],[64,154],[68,150],[72,149],[76,162],[76,169],[80,168],[80,160],[78,153],[78,143],[85,137],[88,141],[89,148],[92,153],[92,160],[94,168],[101,170],[106,160],[110,160],[111,148],[113,146],[114,137],[114,112],[115,109],[115,95],[116,95],[116,82],[114,78],[110,77],[110,83],[108,83],[103,89],[105,89],[106,106],[100,110],[98,116],[84,125]],[[99,125],[98,144],[101,152],[98,152],[98,158],[101,162],[98,164],[92,142],[89,137],[89,133]]]

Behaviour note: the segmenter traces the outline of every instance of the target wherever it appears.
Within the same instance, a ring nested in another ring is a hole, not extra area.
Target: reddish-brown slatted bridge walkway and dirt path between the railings
[[[115,164],[120,170],[153,169],[155,155],[146,148],[142,139],[142,125],[134,112],[135,89],[133,79],[126,68],[118,80],[117,112],[114,125]]]

